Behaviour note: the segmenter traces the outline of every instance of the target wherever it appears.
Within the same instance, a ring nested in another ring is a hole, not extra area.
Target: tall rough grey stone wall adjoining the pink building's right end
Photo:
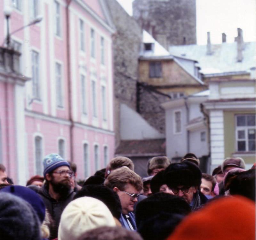
[[[142,30],[139,24],[116,0],[107,0],[109,13],[116,27],[113,35],[114,119],[116,146],[120,142],[120,103],[136,110],[136,84]]]

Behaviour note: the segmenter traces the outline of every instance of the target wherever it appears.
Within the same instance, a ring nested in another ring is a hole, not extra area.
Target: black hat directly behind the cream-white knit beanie
[[[85,185],[80,189],[74,199],[92,197],[102,201],[117,219],[121,216],[121,202],[116,192],[103,185]],[[86,204],[86,203],[85,203]]]

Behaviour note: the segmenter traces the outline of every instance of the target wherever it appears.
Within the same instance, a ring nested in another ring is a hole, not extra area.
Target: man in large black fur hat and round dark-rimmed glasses
[[[191,210],[201,207],[207,198],[200,191],[202,173],[196,164],[183,161],[173,163],[165,169],[164,181],[174,195],[186,200]]]

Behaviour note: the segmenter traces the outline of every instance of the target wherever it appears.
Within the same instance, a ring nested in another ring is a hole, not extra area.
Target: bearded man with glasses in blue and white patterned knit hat
[[[38,194],[54,221],[50,229],[50,239],[54,239],[58,235],[60,216],[75,195],[70,182],[74,172],[70,170],[69,163],[59,154],[45,156],[43,165],[45,183]]]

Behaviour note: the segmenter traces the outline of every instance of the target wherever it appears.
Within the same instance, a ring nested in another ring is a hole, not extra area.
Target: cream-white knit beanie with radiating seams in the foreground
[[[58,240],[80,240],[87,230],[101,226],[116,226],[108,207],[95,198],[77,198],[61,214]]]

